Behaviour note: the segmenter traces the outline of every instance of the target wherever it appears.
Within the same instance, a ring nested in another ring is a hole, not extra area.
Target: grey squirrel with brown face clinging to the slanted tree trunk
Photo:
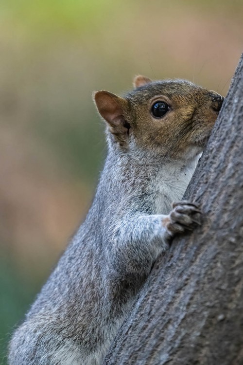
[[[199,207],[180,200],[224,98],[141,75],[124,97],[93,98],[106,122],[104,170],[84,223],[13,334],[10,365],[102,364],[156,258],[199,223]]]

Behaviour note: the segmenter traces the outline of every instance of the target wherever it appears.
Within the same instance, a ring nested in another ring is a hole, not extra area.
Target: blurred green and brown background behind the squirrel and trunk
[[[93,90],[135,74],[226,94],[242,0],[1,0],[0,364],[89,208],[105,157]]]

